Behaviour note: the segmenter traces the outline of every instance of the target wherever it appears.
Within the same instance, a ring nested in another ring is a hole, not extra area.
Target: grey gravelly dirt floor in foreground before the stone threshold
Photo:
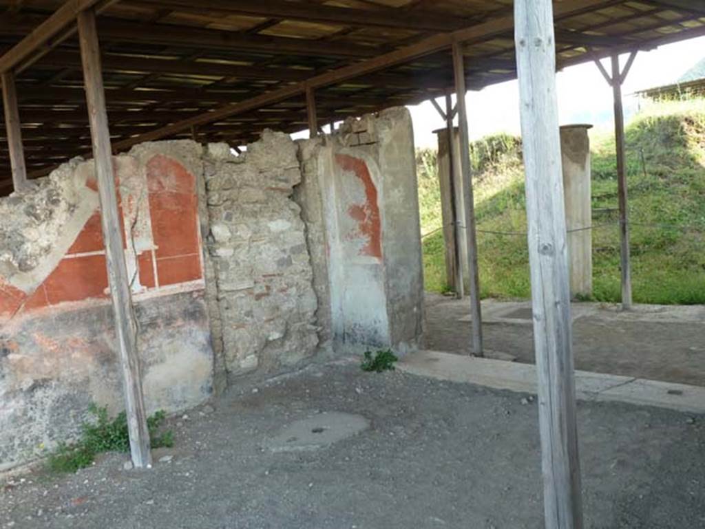
[[[176,447],[150,471],[111,454],[8,480],[0,528],[539,529],[537,406],[524,397],[310,366],[173,419]],[[313,439],[363,430],[316,447],[290,428],[300,419],[320,421]],[[589,402],[578,420],[586,528],[705,527],[705,417]]]

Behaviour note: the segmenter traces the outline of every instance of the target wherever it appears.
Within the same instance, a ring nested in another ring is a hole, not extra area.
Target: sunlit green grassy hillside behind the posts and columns
[[[620,300],[614,139],[592,133],[594,296]],[[524,174],[520,140],[470,146],[482,297],[528,298]],[[419,150],[419,204],[427,290],[446,290],[436,153]],[[648,104],[627,125],[632,285],[637,303],[705,303],[705,99]]]

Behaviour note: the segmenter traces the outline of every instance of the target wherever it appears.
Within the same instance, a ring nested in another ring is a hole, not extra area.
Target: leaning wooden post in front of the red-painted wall
[[[103,239],[105,241],[108,280],[113,301],[118,349],[123,369],[125,409],[130,433],[130,452],[135,468],[152,466],[149,452],[147,412],[142,396],[140,359],[137,354],[137,323],[125,266],[123,237],[113,173],[113,161],[105,110],[100,49],[92,9],[78,13],[78,34],[83,63],[83,78],[93,143],[95,172],[101,205]]]

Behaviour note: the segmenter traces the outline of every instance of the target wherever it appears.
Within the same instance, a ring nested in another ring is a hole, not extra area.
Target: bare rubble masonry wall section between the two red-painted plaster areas
[[[300,207],[297,147],[265,131],[235,156],[211,144],[205,156],[214,266],[228,375],[275,371],[317,350],[317,298]]]

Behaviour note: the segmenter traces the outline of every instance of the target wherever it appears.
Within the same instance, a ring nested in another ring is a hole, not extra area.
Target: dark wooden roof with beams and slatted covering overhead
[[[115,151],[302,130],[307,91],[319,123],[440,96],[453,86],[453,42],[469,89],[516,77],[513,0],[0,0],[0,73],[15,74],[30,178],[90,155],[75,20],[46,39],[33,32],[82,4],[99,13]],[[705,5],[690,0],[556,0],[554,13],[558,68],[705,35]],[[17,56],[23,39],[42,46]],[[9,159],[2,126],[0,195],[12,189]]]

